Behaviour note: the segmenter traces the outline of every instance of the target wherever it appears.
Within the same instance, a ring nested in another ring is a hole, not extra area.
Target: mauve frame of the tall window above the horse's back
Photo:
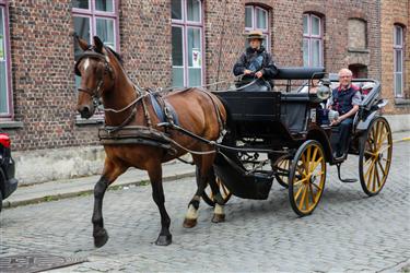
[[[184,69],[184,87],[190,86],[189,83],[189,58],[188,58],[188,28],[199,28],[200,29],[200,43],[201,43],[201,85],[204,84],[204,78],[206,78],[206,55],[204,55],[204,9],[203,9],[203,1],[202,0],[195,0],[200,2],[200,19],[199,22],[197,21],[188,21],[188,4],[187,0],[180,0],[181,7],[181,13],[183,19],[173,19],[171,15],[171,27],[180,27],[183,28],[183,69]],[[172,68],[174,68],[174,64],[172,64]],[[181,68],[180,66],[175,66],[175,68]]]

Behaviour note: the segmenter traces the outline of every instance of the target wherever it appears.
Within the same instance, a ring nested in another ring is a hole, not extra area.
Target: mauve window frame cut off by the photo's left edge
[[[0,121],[14,119],[13,88],[11,75],[11,46],[10,46],[10,13],[9,1],[0,0],[0,7],[3,10],[3,33],[4,33],[4,54],[5,54],[5,92],[7,92],[7,112],[0,112]]]

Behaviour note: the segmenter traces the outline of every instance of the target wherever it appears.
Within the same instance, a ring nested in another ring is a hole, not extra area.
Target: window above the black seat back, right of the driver
[[[303,14],[303,66],[321,67],[324,35],[321,19],[315,14]]]

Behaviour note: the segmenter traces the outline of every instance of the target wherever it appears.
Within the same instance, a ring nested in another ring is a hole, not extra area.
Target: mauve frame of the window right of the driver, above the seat
[[[307,34],[304,32],[303,28],[303,41],[307,40],[307,50],[308,50],[308,60],[307,60],[307,66],[303,63],[304,67],[312,67],[313,66],[313,47],[312,44],[315,40],[319,41],[319,64],[318,66],[324,66],[324,20],[321,16],[312,13],[312,12],[306,12],[303,13],[303,21],[302,21],[302,27],[304,26],[304,20],[307,17]],[[319,20],[319,35],[312,34],[312,24],[313,24],[313,17],[316,17]],[[302,56],[304,56],[304,47],[302,46]],[[303,58],[302,58],[303,59]],[[304,62],[304,60],[303,60]]]

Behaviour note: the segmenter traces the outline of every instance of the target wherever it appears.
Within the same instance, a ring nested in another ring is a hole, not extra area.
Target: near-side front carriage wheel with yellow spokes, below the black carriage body
[[[289,174],[289,198],[293,211],[305,216],[320,201],[326,180],[324,149],[314,140],[306,141],[297,150]]]

